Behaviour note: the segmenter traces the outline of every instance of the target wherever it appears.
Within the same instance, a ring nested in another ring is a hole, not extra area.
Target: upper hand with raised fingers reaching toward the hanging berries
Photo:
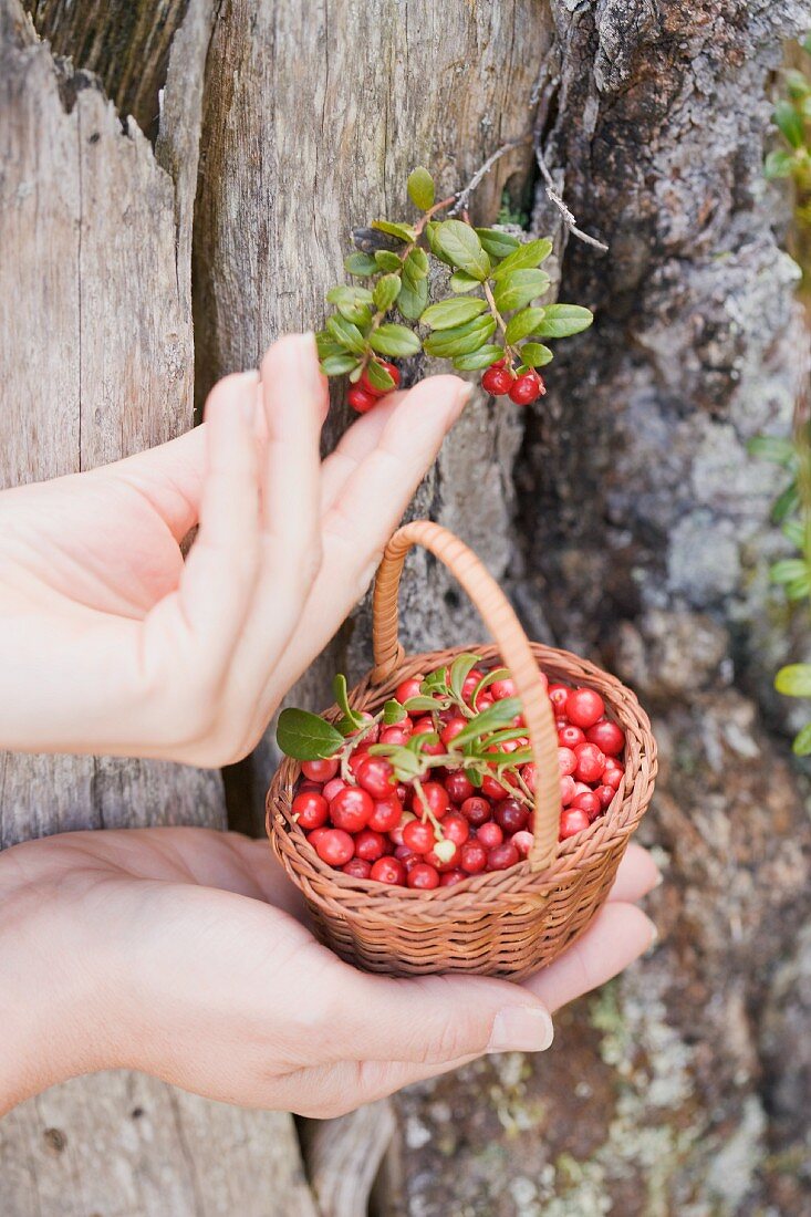
[[[250,752],[363,595],[468,396],[455,376],[391,394],[321,462],[326,382],[312,335],[291,336],[261,381],[220,381],[189,434],[0,494],[0,748]]]

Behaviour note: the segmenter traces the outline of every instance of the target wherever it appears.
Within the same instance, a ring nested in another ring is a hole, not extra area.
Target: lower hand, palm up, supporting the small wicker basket
[[[267,842],[205,829],[73,832],[0,856],[0,1111],[138,1069],[242,1106],[334,1116],[487,1051],[542,1050],[548,1011],[653,941],[631,846],[588,931],[525,985],[392,980],[319,946]]]

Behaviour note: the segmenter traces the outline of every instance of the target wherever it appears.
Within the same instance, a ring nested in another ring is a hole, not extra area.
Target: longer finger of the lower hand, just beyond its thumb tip
[[[583,937],[524,987],[554,1013],[610,981],[644,954],[655,937],[655,925],[636,905],[605,904]]]

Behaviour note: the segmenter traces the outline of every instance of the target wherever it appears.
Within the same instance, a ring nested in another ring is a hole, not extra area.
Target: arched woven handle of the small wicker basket
[[[532,870],[544,870],[558,848],[560,819],[558,733],[552,703],[538,679],[538,664],[526,634],[498,583],[472,550],[447,528],[430,520],[414,520],[398,528],[377,568],[373,607],[375,667],[371,683],[382,684],[393,675],[404,658],[398,640],[397,593],[403,562],[413,545],[423,545],[430,550],[464,588],[515,680],[524,702],[524,718],[536,764],[535,839],[528,860]]]

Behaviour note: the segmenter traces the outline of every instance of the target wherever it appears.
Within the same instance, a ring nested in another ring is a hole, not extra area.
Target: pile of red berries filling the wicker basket
[[[474,668],[462,689],[465,705],[475,700],[475,714],[515,697],[508,673],[482,688],[486,675]],[[414,677],[398,686],[396,700],[424,701],[424,690],[421,678]],[[548,695],[558,728],[563,841],[605,814],[625,772],[625,733],[605,716],[603,699],[593,689],[553,684]],[[301,767],[292,813],[323,862],[356,879],[430,890],[507,870],[527,857],[536,765],[505,764],[513,752],[526,757],[522,716],[513,719],[515,738],[488,750],[498,752],[500,780],[480,773],[480,785],[474,785],[469,770],[443,764],[429,769],[424,780],[398,781],[392,763],[369,752],[374,745],[402,746],[426,735],[431,741],[420,751],[447,757],[470,722],[459,707],[440,714],[412,711],[387,727],[365,718],[364,728],[354,733],[359,742],[342,759],[304,761]]]

